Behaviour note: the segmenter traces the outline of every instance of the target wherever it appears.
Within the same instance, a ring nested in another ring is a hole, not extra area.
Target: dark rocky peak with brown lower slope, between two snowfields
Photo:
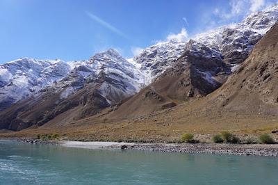
[[[171,68],[119,106],[113,116],[130,118],[176,106],[190,97],[204,97],[231,73],[220,52],[194,40],[185,49]]]

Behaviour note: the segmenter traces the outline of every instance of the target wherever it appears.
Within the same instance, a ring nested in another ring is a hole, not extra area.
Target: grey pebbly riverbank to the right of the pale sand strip
[[[122,150],[143,150],[157,152],[180,152],[196,154],[229,154],[243,156],[278,156],[278,145],[243,145],[243,144],[135,144],[135,145],[113,145],[109,148]]]

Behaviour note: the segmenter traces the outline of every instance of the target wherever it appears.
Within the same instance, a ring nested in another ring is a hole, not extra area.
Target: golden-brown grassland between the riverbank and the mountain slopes
[[[278,129],[278,116],[252,115],[202,108],[202,102],[187,102],[140,118],[117,120],[101,116],[67,124],[44,124],[22,131],[0,134],[0,137],[35,137],[37,134],[58,133],[70,140],[110,140],[129,142],[177,142],[184,133],[211,142],[213,134],[230,131],[240,138],[271,134]],[[192,107],[195,108],[192,108]],[[272,134],[277,139],[278,134]]]

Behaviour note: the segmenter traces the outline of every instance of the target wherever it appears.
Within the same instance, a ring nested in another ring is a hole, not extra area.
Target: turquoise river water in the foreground
[[[278,184],[278,158],[90,150],[0,140],[0,184]]]

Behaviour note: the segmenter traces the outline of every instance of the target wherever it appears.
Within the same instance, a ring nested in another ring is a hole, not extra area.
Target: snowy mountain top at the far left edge
[[[64,61],[22,58],[0,65],[0,111],[38,93],[70,72]]]

